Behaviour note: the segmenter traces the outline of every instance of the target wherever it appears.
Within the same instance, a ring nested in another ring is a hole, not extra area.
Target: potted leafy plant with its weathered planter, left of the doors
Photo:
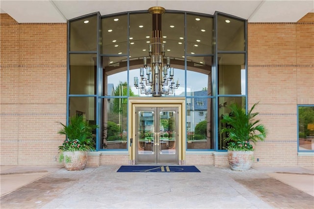
[[[62,125],[59,134],[66,135],[63,144],[59,146],[61,154],[59,161],[64,163],[68,171],[83,170],[87,163],[87,152],[94,150],[94,139],[92,131],[97,125],[89,125],[83,115],[70,117],[68,125]]]

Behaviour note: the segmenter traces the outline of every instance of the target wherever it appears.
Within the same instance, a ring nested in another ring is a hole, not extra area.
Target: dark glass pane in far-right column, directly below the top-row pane
[[[218,54],[218,94],[245,95],[245,55]]]

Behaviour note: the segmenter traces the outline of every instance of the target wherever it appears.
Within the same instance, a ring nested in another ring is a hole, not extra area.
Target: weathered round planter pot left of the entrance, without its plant
[[[80,171],[85,168],[87,163],[87,152],[74,151],[63,152],[64,167],[68,171]]]

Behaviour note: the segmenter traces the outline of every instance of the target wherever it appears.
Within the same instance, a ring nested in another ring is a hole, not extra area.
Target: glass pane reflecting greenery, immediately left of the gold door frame
[[[127,149],[127,99],[103,99],[101,149]]]

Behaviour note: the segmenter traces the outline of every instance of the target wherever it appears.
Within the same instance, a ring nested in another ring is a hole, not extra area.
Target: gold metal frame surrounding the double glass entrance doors
[[[178,164],[185,160],[185,98],[147,98],[136,97],[129,99],[129,159],[130,164],[135,164],[135,108],[136,107],[178,107]]]

